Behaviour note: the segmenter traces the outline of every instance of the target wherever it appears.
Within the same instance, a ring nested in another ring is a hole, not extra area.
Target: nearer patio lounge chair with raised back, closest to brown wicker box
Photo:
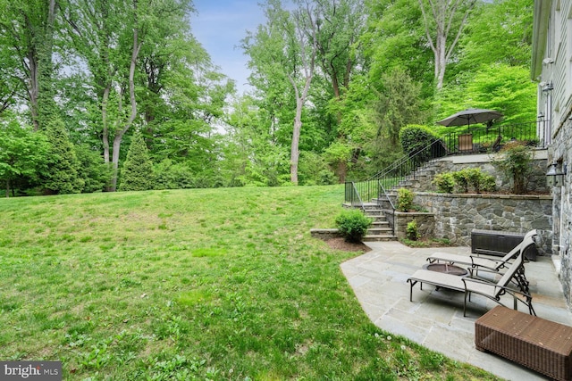
[[[523,240],[521,246],[524,249],[524,247],[529,244],[534,244],[531,237],[527,237]],[[520,250],[520,253],[517,255],[517,259],[510,264],[507,271],[496,283],[475,277],[458,277],[427,269],[418,269],[411,277],[408,278],[408,282],[410,284],[409,301],[413,302],[413,286],[419,283],[420,288],[423,289],[423,284],[428,283],[436,287],[464,292],[465,299],[463,303],[463,316],[467,316],[467,298],[470,302],[471,294],[483,295],[501,305],[504,305],[501,303],[501,296],[503,294],[510,294],[514,300],[515,310],[517,310],[517,302],[522,302],[528,307],[528,312],[531,315],[536,315],[533,308],[533,297],[524,291],[518,291],[509,287],[511,279],[517,276],[517,272],[523,266],[523,252],[524,250]]]

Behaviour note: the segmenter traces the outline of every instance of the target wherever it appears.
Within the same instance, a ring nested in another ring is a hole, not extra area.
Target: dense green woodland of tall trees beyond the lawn
[[[266,0],[237,94],[192,0],[0,0],[0,178],[14,195],[114,191],[131,142],[147,188],[365,177],[403,154],[407,125],[467,107],[534,120],[533,5]]]

